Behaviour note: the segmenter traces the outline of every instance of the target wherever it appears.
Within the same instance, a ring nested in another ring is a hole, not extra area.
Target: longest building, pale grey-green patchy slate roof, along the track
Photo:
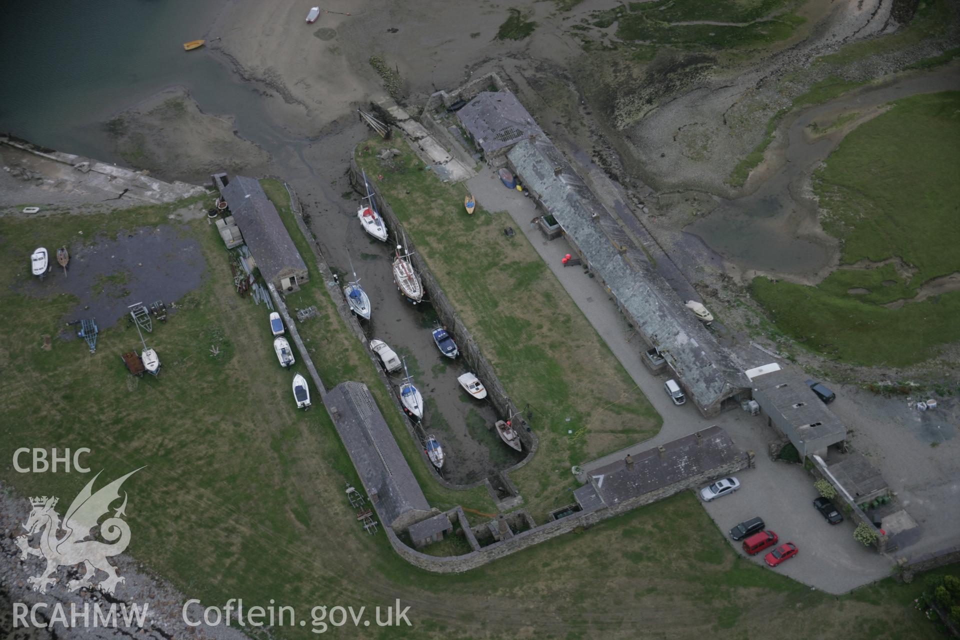
[[[627,320],[660,350],[687,398],[703,415],[716,415],[750,396],[747,377],[684,307],[560,150],[545,137],[523,140],[507,158]]]

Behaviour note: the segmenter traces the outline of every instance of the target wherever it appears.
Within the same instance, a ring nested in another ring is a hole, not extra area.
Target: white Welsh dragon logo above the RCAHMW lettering
[[[140,469],[142,468],[141,466]],[[66,586],[70,591],[93,586],[97,569],[107,574],[107,580],[99,584],[102,591],[112,594],[117,583],[125,581],[117,575],[116,568],[107,561],[107,557],[122,554],[130,544],[130,526],[120,518],[121,515],[127,515],[124,511],[127,508],[126,491],[124,491],[123,504],[120,508],[100,523],[101,537],[112,544],[87,538],[90,537],[91,530],[97,526],[100,517],[110,510],[110,504],[120,498],[120,486],[140,469],[134,469],[93,493],[93,483],[100,476],[100,473],[97,473],[93,480],[84,486],[84,490],[74,498],[70,509],[66,510],[62,525],[60,525],[60,515],[54,510],[59,498],[43,496],[30,499],[33,510],[30,512],[30,518],[23,525],[27,534],[16,538],[16,546],[22,552],[21,559],[26,559],[29,555],[44,557],[47,560],[47,567],[40,572],[39,576],[27,579],[34,585],[34,591],[46,593],[47,585],[57,582],[54,575],[58,568],[81,562],[84,563],[86,573],[79,580],[67,582]],[[61,530],[62,536],[60,536]],[[39,547],[31,547],[28,543],[28,538],[34,533],[39,533]]]

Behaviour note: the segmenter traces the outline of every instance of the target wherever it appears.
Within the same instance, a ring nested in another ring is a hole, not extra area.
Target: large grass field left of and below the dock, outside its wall
[[[273,599],[307,618],[318,604],[372,607],[400,598],[411,606],[413,628],[339,631],[381,638],[634,638],[637,628],[653,636],[759,637],[769,632],[771,611],[779,637],[817,637],[825,621],[844,621],[854,636],[938,637],[912,607],[924,576],[839,599],[810,591],[737,557],[691,493],[464,575],[410,566],[382,533],[357,525],[343,493],[345,482],[357,481],[333,426],[320,407],[293,408],[291,372],[276,364],[267,310],[233,292],[214,227],[169,220],[177,208],[0,218],[0,370],[7,373],[0,456],[8,461],[0,479],[21,496],[58,495],[62,504],[90,476],[15,473],[14,448],[88,446],[84,462],[104,469],[98,486],[146,464],[124,486],[128,553],[186,598],[217,605],[242,598],[248,607]],[[53,350],[42,350],[40,336],[56,336],[76,300],[20,291],[30,251],[57,247],[78,230],[113,236],[145,225],[196,237],[206,270],[152,334],[159,378],[135,385],[128,378],[117,355],[135,331],[122,323],[101,333],[94,355],[57,338]],[[321,348],[321,321],[304,325],[311,348]],[[326,348],[331,359],[345,357]],[[309,626],[273,632],[316,637]]]

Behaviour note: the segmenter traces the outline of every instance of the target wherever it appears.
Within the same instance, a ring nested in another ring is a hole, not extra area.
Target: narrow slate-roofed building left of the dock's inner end
[[[430,505],[367,385],[342,382],[327,391],[324,405],[380,522],[404,533],[431,518]],[[431,529],[423,537],[435,533]]]

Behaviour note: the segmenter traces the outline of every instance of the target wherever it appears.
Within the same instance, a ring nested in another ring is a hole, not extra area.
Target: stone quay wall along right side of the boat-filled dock
[[[360,174],[360,171],[357,169],[356,162],[352,159],[350,160],[348,174],[350,185],[353,186],[353,188],[358,192],[361,192],[361,189],[363,188],[363,177]],[[403,225],[400,224],[400,221],[396,217],[396,213],[394,213],[394,210],[391,208],[390,204],[380,195],[376,186],[376,181],[370,177],[367,178],[367,181],[371,184],[373,198],[376,201],[377,209],[379,210],[380,215],[383,216],[384,220],[387,222],[387,225],[390,225],[395,232],[400,232],[403,229]],[[460,353],[464,356],[464,359],[467,360],[473,371],[483,381],[484,386],[487,388],[487,397],[491,404],[501,416],[519,415],[520,412],[517,410],[511,399],[507,396],[507,392],[503,389],[499,379],[496,377],[493,367],[491,367],[490,363],[487,362],[487,359],[480,351],[480,347],[477,346],[476,342],[473,340],[473,336],[470,334],[467,326],[457,316],[456,311],[453,309],[453,305],[450,304],[450,301],[444,294],[444,290],[437,283],[437,280],[433,277],[433,274],[430,273],[430,270],[427,269],[422,257],[420,256],[420,253],[416,252],[416,247],[413,245],[413,243],[410,243],[409,238],[407,239],[407,245],[409,249],[414,251],[414,255],[411,256],[411,261],[413,262],[417,271],[420,272],[420,277],[423,280],[423,287],[430,296],[430,302],[437,310],[437,315],[444,323],[446,330],[454,337],[454,340],[460,349]],[[517,430],[517,433],[520,436],[520,441],[523,442],[523,445],[527,449],[527,455],[522,461],[517,462],[510,468],[501,471],[501,475],[510,471],[514,471],[530,461],[533,455],[537,452],[539,446],[539,439],[537,436],[534,435],[532,431],[527,430],[526,420],[520,417],[518,421],[520,428]],[[505,482],[504,484],[506,486],[511,486],[509,482]]]

